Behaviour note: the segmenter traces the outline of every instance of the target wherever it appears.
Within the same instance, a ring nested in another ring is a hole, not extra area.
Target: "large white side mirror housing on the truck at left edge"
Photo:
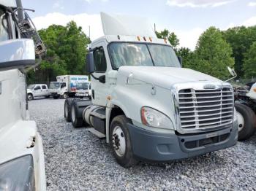
[[[22,69],[35,64],[32,39],[14,39],[0,42],[0,71]]]

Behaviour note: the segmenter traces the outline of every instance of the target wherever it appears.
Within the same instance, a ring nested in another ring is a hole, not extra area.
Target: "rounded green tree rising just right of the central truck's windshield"
[[[222,32],[210,27],[198,39],[195,48],[193,68],[219,79],[227,79],[227,66],[233,67],[232,49],[222,36]]]

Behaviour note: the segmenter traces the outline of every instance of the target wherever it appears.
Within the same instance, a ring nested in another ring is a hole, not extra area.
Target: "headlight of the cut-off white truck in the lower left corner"
[[[35,190],[31,155],[18,157],[0,165],[0,190]]]

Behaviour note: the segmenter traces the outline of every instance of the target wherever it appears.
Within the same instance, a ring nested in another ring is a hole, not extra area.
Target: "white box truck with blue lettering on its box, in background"
[[[89,82],[86,75],[63,75],[50,82],[50,95],[53,98],[75,97],[78,83]]]

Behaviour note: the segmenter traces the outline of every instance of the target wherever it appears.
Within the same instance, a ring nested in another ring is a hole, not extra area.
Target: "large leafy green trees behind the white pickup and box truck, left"
[[[86,52],[90,39],[74,21],[67,26],[52,25],[39,30],[47,54],[35,71],[29,71],[28,82],[55,81],[62,74],[86,74]]]

